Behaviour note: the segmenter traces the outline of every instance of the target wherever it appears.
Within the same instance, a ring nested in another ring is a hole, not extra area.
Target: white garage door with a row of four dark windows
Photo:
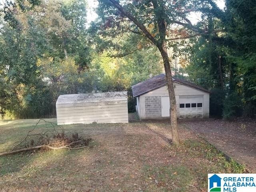
[[[203,96],[180,96],[179,98],[180,118],[202,118],[203,117]]]

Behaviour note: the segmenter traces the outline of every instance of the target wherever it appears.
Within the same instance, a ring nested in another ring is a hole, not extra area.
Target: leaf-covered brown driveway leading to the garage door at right
[[[256,122],[224,120],[181,121],[190,130],[214,144],[246,168],[256,173]]]

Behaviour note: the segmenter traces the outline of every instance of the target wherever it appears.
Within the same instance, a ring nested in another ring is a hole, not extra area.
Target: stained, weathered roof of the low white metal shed
[[[60,95],[56,105],[108,101],[113,102],[120,100],[127,100],[126,91]]]

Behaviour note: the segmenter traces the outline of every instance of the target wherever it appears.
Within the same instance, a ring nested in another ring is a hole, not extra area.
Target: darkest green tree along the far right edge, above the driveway
[[[226,0],[227,45],[232,54],[232,90],[242,96],[243,115],[256,115],[256,4],[254,0]],[[231,42],[231,43],[230,43]],[[241,98],[240,98],[241,100]]]

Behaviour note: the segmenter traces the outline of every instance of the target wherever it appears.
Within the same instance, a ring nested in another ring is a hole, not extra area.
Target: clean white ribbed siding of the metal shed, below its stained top
[[[56,112],[58,125],[128,123],[127,95],[118,99],[109,98],[109,101],[104,99],[102,102],[100,99],[90,99],[90,102],[87,103],[71,100],[70,104],[57,101]]]

